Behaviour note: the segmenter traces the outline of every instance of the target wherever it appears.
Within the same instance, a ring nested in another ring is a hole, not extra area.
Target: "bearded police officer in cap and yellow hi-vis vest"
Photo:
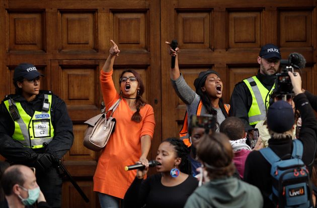
[[[257,59],[260,64],[258,74],[244,79],[233,88],[229,115],[240,118],[247,132],[265,119],[269,94],[274,89],[275,74],[279,70],[280,59],[281,53],[277,46],[264,45]]]

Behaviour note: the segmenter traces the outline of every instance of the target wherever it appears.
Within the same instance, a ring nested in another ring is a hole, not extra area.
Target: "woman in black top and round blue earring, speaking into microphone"
[[[184,207],[189,195],[198,186],[196,178],[191,176],[191,165],[188,160],[189,150],[179,139],[164,140],[155,160],[159,174],[143,180],[148,171],[147,162],[138,169],[136,177],[124,196],[124,207]]]

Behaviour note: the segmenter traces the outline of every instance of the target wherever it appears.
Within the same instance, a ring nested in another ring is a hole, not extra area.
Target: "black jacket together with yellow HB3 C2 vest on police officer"
[[[49,101],[49,111],[42,112],[45,94],[51,96],[51,101]],[[19,109],[19,114],[23,117],[23,123],[32,129],[23,131],[23,127],[20,128],[18,125],[18,120],[16,122],[13,120],[6,106],[9,98],[16,103],[17,109],[19,105],[21,106],[23,111]],[[39,126],[39,122],[41,126]],[[21,133],[18,133],[18,129],[21,129]],[[28,135],[28,141],[25,140],[25,135]],[[41,148],[44,142],[48,145]],[[51,91],[40,90],[35,99],[31,101],[27,101],[20,94],[11,94],[2,101],[0,105],[0,154],[9,161],[30,166],[36,161],[38,153],[49,153],[60,159],[70,149],[72,143],[72,121],[67,113],[66,104]]]

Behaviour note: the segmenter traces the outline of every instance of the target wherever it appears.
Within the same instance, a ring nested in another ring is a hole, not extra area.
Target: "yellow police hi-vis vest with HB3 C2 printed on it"
[[[12,138],[25,147],[42,148],[44,142],[48,144],[54,137],[54,128],[51,122],[52,95],[44,94],[44,97],[49,102],[49,110],[47,112],[35,111],[32,117],[24,111],[20,102],[13,99],[5,100],[8,111],[11,105],[15,105],[19,111],[20,118],[14,121],[15,130]]]

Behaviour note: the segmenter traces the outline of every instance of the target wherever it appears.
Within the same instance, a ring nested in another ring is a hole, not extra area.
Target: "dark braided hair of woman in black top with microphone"
[[[192,173],[192,167],[190,164],[190,161],[188,160],[189,155],[189,149],[184,144],[184,142],[177,138],[168,138],[164,140],[163,142],[168,142],[171,145],[174,146],[175,152],[177,154],[177,157],[181,158],[181,163],[179,165],[180,171],[186,174]],[[162,142],[162,143],[163,143]]]

